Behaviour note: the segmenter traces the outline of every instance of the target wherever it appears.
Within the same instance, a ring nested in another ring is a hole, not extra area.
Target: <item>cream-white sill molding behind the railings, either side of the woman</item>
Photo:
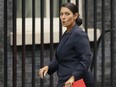
[[[53,42],[58,43],[59,42],[59,18],[53,19]],[[26,45],[32,45],[32,19],[26,18],[26,37],[25,37],[25,44]],[[35,21],[35,44],[40,44],[40,34],[41,34],[41,28],[40,28],[40,18],[36,18]],[[63,27],[63,32],[65,31],[65,28]],[[88,29],[88,36],[89,40],[92,42],[94,41],[94,29],[89,28]],[[97,29],[97,39],[100,37],[100,30]],[[50,43],[50,19],[44,18],[44,43],[49,44]],[[10,33],[10,45],[13,45],[13,33]],[[17,18],[17,46],[22,45],[22,19]]]

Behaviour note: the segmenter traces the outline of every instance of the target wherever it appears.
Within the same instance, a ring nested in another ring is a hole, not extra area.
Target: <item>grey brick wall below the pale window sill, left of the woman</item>
[[[31,87],[31,82],[32,82],[32,47],[31,46],[26,46],[26,65],[25,65],[25,70],[26,70],[26,87]],[[40,68],[40,46],[36,46],[35,47],[35,57],[36,57],[36,85],[37,87],[39,87],[39,83],[40,83],[40,79],[37,76],[37,72],[38,69]],[[12,49],[12,47],[11,47]],[[21,87],[21,79],[22,79],[22,48],[18,47],[17,48],[17,85],[18,87]],[[45,52],[44,52],[44,57],[45,57],[45,64],[48,63],[48,61],[50,60],[50,55],[49,55],[49,45],[45,45]],[[12,55],[11,52],[9,52],[9,59],[8,59],[8,85],[9,87],[12,87]],[[49,77],[47,76],[45,79],[45,86],[47,87],[47,85],[49,84]]]

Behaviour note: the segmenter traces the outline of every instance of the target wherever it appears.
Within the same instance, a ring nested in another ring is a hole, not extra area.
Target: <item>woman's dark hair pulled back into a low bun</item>
[[[78,7],[73,3],[65,3],[65,4],[62,4],[61,7],[68,8],[73,14],[78,13]],[[80,26],[82,24],[82,19],[78,17],[76,19],[76,24]]]

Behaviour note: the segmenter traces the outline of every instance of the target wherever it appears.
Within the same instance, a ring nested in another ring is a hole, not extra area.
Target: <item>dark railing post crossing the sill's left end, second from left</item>
[[[13,0],[13,87],[17,87],[17,28],[16,28],[17,0]]]

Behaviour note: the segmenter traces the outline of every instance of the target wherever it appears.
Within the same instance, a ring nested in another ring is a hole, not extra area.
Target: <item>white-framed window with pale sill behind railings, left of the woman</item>
[[[75,3],[76,0],[71,0]],[[62,0],[66,3],[67,0]],[[26,27],[26,45],[32,44],[32,0],[26,0],[25,5],[25,27]],[[53,31],[54,43],[59,42],[59,0],[53,0]],[[79,0],[79,14],[82,17],[82,0]],[[35,44],[40,44],[40,0],[35,0]],[[22,45],[22,0],[17,0],[17,45]],[[50,0],[44,0],[44,43],[50,43]],[[64,28],[64,27],[63,27]],[[63,32],[65,29],[63,29]],[[13,44],[13,34],[10,34],[10,44]]]

